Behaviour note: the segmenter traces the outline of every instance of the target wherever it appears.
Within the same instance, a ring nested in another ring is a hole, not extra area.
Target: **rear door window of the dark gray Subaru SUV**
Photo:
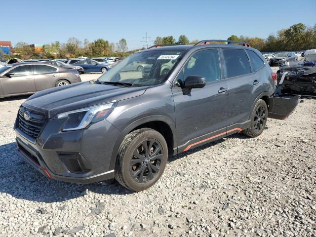
[[[250,64],[243,49],[222,49],[228,78],[249,74]]]

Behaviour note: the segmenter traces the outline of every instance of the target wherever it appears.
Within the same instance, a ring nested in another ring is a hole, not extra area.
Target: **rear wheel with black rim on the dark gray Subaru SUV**
[[[262,114],[259,109],[263,109]],[[260,118],[259,118],[260,117]],[[257,137],[259,136],[266,127],[268,118],[268,107],[264,100],[260,99],[257,101],[255,107],[253,108],[251,115],[251,124],[250,127],[244,129],[242,133],[248,137]]]

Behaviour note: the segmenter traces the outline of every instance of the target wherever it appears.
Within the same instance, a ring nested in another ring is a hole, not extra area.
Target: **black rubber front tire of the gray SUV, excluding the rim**
[[[162,152],[163,152],[163,159],[161,160],[161,165],[160,165],[160,170],[158,171],[158,174],[150,181],[146,182],[146,183],[138,183],[136,182],[129,171],[129,163],[130,163],[130,158],[133,155],[134,150],[136,149],[136,146],[141,143],[142,141],[149,139],[149,138],[153,138],[156,139],[162,148]],[[124,152],[124,157],[122,157],[122,165],[121,165],[121,175],[122,175],[122,180],[126,186],[126,188],[131,189],[133,191],[142,191],[145,190],[151,186],[153,186],[158,179],[160,178],[160,176],[162,175],[164,168],[166,166],[167,163],[167,159],[168,159],[168,147],[167,147],[167,143],[165,142],[163,136],[155,131],[155,130],[149,130],[149,131],[145,131],[141,134],[139,134],[138,136],[136,136],[132,142],[127,146],[126,151]]]

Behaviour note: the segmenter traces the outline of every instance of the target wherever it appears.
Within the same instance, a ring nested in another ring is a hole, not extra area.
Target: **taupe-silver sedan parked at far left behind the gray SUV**
[[[33,94],[55,86],[80,82],[76,70],[46,63],[15,63],[0,68],[0,98]]]

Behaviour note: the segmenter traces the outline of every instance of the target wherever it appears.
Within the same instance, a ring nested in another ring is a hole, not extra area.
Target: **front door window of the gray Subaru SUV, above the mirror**
[[[195,53],[184,66],[184,77],[204,77],[206,83],[221,78],[217,49],[208,49]]]

